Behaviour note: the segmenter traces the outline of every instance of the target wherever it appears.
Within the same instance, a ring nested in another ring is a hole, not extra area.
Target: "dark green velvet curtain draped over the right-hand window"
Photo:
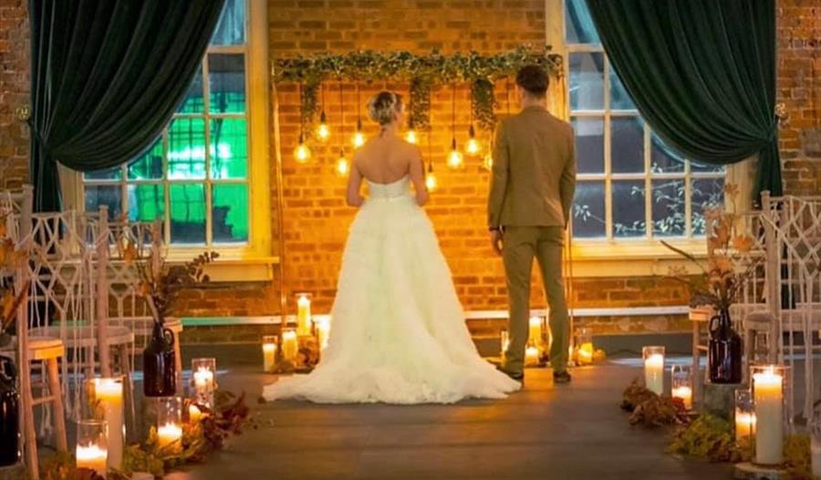
[[[774,0],[587,0],[608,58],[650,127],[691,159],[758,154],[755,197],[782,194]]]

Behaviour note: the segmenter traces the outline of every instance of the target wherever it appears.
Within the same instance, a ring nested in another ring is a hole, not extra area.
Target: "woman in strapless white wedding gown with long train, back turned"
[[[369,116],[381,129],[357,152],[348,178],[348,204],[359,213],[342,256],[327,348],[310,374],[266,386],[264,396],[322,403],[504,398],[520,384],[479,356],[464,324],[421,209],[428,201],[421,153],[397,134],[400,95],[380,92]],[[367,199],[359,193],[363,180]]]

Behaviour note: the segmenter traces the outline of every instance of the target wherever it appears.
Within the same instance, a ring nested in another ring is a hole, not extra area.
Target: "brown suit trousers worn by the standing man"
[[[504,351],[502,368],[518,373],[525,366],[525,346],[530,318],[530,277],[535,256],[549,306],[553,346],[550,363],[554,372],[565,371],[570,347],[570,322],[562,277],[564,228],[560,226],[505,226],[502,237],[504,274],[510,308],[510,342]]]

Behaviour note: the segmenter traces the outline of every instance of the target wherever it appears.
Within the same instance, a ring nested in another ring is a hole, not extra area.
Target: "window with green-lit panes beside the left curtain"
[[[87,211],[165,222],[170,245],[245,245],[250,230],[245,0],[227,0],[185,98],[151,148],[83,175]]]

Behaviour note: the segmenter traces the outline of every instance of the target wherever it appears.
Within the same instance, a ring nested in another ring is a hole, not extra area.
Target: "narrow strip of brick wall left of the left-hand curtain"
[[[28,128],[15,110],[28,104],[28,2],[0,4],[0,189],[28,178]]]

